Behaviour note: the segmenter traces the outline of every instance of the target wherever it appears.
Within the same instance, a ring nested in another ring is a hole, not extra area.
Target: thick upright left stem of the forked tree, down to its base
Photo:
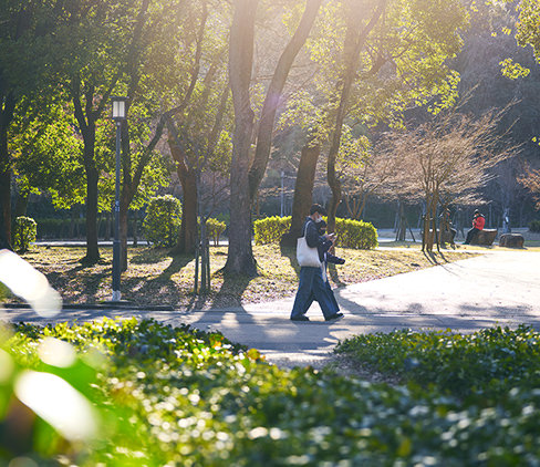
[[[230,29],[229,81],[235,107],[235,133],[230,167],[229,249],[225,271],[257,276],[251,246],[251,198],[249,196],[250,146],[253,134],[253,111],[249,85],[253,64],[255,17],[257,1],[235,1]]]

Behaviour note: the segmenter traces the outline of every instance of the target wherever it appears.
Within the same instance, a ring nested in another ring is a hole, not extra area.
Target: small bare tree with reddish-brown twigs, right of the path
[[[516,154],[498,133],[500,117],[491,112],[477,118],[454,108],[416,128],[391,132],[380,143],[377,152],[403,164],[391,184],[394,193],[425,201],[423,250],[439,247],[439,205],[444,210],[449,204],[478,203],[494,168]]]

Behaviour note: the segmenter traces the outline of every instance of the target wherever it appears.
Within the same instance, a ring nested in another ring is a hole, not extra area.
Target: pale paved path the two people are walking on
[[[257,347],[270,361],[316,363],[333,346],[360,333],[399,328],[472,332],[495,324],[540,329],[540,252],[498,251],[468,260],[336,289],[345,318],[328,324],[318,304],[311,322],[291,322],[293,298],[212,311],[63,310],[51,321],[139,315],[201,330]],[[8,309],[1,319],[46,322],[31,310]]]

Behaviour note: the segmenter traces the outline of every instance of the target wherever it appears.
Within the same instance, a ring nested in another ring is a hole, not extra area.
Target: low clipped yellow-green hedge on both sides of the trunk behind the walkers
[[[256,245],[277,243],[291,227],[291,217],[267,217],[253,224]],[[352,219],[335,219],[338,247],[367,250],[376,248],[377,231],[370,222]]]

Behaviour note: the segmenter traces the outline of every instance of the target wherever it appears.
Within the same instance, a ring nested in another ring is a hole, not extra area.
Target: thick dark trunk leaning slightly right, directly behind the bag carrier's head
[[[281,237],[280,243],[283,247],[294,247],[297,239],[302,236],[302,226],[305,217],[310,214],[312,204],[315,169],[320,154],[321,147],[319,145],[310,146],[308,143],[302,147],[292,199],[291,228]]]

